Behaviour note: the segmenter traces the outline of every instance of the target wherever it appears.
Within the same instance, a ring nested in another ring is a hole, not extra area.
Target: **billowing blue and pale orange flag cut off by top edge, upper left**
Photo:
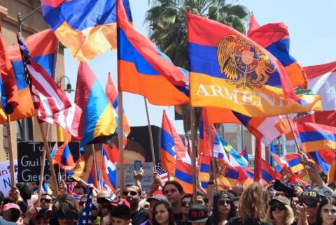
[[[130,3],[123,3],[132,22]],[[116,0],[41,0],[41,5],[45,22],[76,59],[88,61],[116,50]]]

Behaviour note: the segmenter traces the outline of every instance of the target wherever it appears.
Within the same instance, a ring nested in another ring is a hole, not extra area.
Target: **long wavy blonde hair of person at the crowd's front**
[[[255,219],[258,222],[265,221],[267,195],[262,189],[261,184],[253,183],[248,186],[243,194],[241,194],[240,199],[238,215],[243,223],[247,219]]]

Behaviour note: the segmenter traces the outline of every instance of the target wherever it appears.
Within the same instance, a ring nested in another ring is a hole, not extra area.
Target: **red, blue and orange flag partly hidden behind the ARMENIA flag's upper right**
[[[247,36],[279,59],[294,88],[307,89],[307,77],[303,68],[289,55],[290,38],[286,24],[277,22],[260,26],[252,14]]]

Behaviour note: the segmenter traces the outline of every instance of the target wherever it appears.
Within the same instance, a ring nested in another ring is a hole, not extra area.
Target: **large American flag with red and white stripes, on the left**
[[[66,97],[42,66],[31,60],[29,50],[20,38],[18,43],[25,66],[25,78],[31,87],[38,119],[50,124],[55,123],[68,130],[72,136],[78,136],[82,110]]]

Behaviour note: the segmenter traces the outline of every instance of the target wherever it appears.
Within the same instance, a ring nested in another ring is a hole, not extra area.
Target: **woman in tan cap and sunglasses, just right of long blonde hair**
[[[269,201],[267,220],[274,225],[290,225],[294,222],[294,212],[285,196],[275,196]]]

